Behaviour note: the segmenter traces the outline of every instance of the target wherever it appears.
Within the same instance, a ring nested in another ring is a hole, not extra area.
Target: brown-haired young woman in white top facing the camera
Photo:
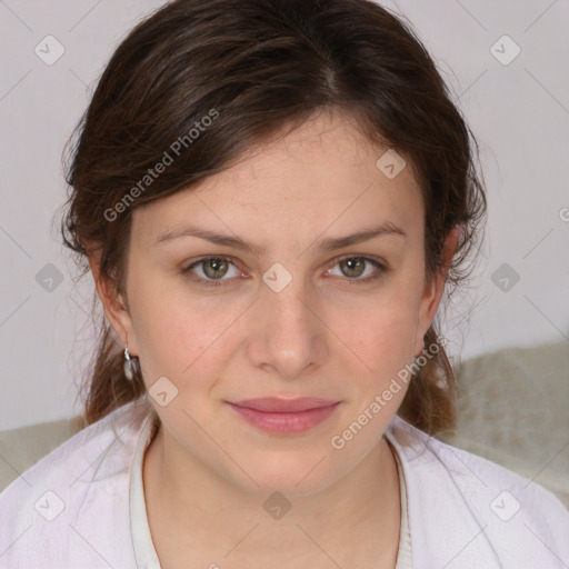
[[[89,427],[0,495],[0,567],[566,567],[452,426],[433,323],[486,210],[425,48],[368,0],[177,0],[109,62],[64,242]]]

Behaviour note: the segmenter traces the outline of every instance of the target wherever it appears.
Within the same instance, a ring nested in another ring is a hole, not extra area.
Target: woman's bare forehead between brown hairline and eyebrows
[[[188,190],[137,208],[132,237],[151,246],[184,222],[250,236],[260,244],[283,237],[306,244],[323,231],[340,234],[385,221],[420,230],[413,172],[407,161],[396,177],[386,176],[378,160],[387,150],[346,117],[320,114]]]

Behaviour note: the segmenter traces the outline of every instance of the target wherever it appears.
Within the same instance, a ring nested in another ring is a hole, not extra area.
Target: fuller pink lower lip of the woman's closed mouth
[[[292,435],[296,432],[306,432],[322,421],[328,419],[340,405],[333,403],[329,407],[319,407],[318,409],[309,409],[307,411],[298,411],[291,413],[274,413],[267,411],[258,411],[249,407],[239,407],[229,403],[246,421],[253,425],[258,429],[266,432]]]

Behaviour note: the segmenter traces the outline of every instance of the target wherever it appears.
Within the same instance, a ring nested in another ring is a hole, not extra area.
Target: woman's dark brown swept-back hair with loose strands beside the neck
[[[410,160],[425,204],[426,274],[446,271],[449,298],[468,277],[486,216],[477,142],[410,26],[371,0],[176,0],[140,22],[67,146],[61,234],[81,276],[97,254],[99,278],[124,293],[134,208],[191,188],[328,110]],[[456,254],[445,259],[457,226]],[[436,355],[416,370],[398,410],[429,433],[455,423],[456,380],[442,343],[432,325],[425,345]],[[140,377],[126,379],[122,357],[102,317],[82,385],[87,425],[146,393]]]

